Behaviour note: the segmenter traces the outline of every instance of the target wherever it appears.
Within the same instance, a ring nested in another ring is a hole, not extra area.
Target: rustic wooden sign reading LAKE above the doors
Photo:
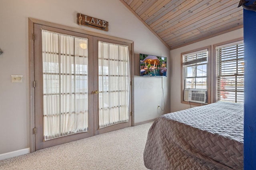
[[[86,16],[81,13],[77,13],[77,24],[84,25],[88,27],[93,27],[96,29],[101,29],[103,31],[108,31],[108,22],[104,20],[100,20],[98,18]]]

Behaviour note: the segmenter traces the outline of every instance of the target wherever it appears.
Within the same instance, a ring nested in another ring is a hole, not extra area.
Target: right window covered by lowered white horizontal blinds
[[[216,101],[244,102],[243,41],[216,47]]]

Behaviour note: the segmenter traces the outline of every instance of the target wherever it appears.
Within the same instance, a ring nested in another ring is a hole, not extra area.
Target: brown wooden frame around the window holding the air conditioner
[[[187,52],[184,52],[184,53],[181,53],[180,54],[180,61],[181,61],[181,103],[182,104],[190,104],[190,105],[194,105],[194,106],[202,106],[202,105],[206,105],[206,104],[202,104],[202,103],[196,103],[196,102],[187,102],[187,101],[184,101],[184,89],[185,89],[185,84],[184,84],[184,66],[183,66],[183,55],[188,55],[190,53],[197,53],[197,52],[200,52],[202,50],[207,50],[208,51],[208,59],[207,59],[207,63],[206,63],[206,70],[207,70],[207,74],[206,74],[206,78],[207,78],[207,98],[208,98],[208,101],[207,101],[207,104],[210,104],[211,103],[211,66],[212,66],[212,63],[211,63],[211,45],[209,46],[206,46],[206,47],[202,47],[202,48],[199,48],[199,49],[194,49],[194,50],[191,50],[191,51],[187,51]]]

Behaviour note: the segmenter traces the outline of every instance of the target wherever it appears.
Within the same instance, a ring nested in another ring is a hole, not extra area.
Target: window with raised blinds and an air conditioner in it
[[[209,50],[210,47],[204,47],[182,53],[182,103],[210,102]]]

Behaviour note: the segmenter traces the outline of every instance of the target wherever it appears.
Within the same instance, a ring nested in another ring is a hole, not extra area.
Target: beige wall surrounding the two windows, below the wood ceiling
[[[171,61],[171,112],[179,111],[183,109],[188,109],[190,106],[188,104],[182,104],[181,101],[181,58],[180,54],[191,51],[194,49],[198,49],[201,47],[207,47],[209,45],[214,45],[218,43],[222,43],[225,41],[229,41],[232,39],[243,37],[243,29],[238,29],[229,33],[225,33],[216,37],[212,37],[210,39],[206,39],[204,41],[200,41],[198,43],[194,43],[191,45],[187,45],[185,47],[181,47],[178,49],[171,50],[170,61]],[[213,47],[212,47],[213,48]],[[212,49],[211,48],[211,49]],[[211,56],[213,56],[213,50],[211,50]],[[194,106],[192,106],[194,107]]]

